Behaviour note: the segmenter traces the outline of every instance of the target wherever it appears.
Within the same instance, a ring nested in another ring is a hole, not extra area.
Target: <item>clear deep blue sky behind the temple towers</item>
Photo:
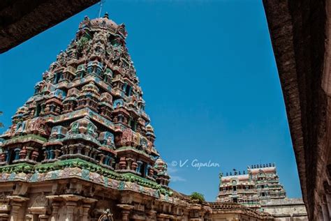
[[[0,116],[10,117],[98,6],[0,55]],[[284,100],[261,1],[107,1],[126,24],[156,148],[179,192],[218,192],[220,171],[275,162],[289,197],[301,197]],[[3,129],[0,130],[2,132]],[[198,170],[191,162],[220,167]],[[172,167],[182,160],[189,167]]]

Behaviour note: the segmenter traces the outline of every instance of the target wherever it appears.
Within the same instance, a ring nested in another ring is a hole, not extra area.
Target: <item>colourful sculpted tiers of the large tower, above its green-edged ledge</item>
[[[108,14],[84,18],[1,136],[1,166],[80,159],[166,188],[126,36]]]

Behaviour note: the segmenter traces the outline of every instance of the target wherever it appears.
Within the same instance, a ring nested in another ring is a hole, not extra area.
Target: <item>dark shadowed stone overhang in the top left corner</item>
[[[98,0],[0,1],[0,53],[66,20]]]

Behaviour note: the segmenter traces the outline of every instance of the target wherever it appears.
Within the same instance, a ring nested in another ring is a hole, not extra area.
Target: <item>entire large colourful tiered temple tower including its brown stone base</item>
[[[1,135],[0,220],[208,220],[168,188],[126,36],[108,14],[85,17],[17,109]]]

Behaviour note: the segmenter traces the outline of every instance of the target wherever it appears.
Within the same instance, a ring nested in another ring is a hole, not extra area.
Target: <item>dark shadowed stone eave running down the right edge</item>
[[[321,184],[327,178],[329,155],[330,97],[322,88],[325,59],[328,58],[328,54],[325,56],[326,2],[263,1],[302,195],[311,220],[318,219],[318,211],[321,211],[318,204],[323,201]]]

